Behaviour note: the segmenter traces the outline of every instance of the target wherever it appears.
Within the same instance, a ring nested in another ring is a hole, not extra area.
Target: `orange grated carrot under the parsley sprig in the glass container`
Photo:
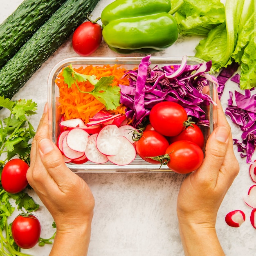
[[[73,67],[74,68],[74,67]],[[127,72],[125,68],[120,67],[120,65],[104,65],[102,67],[87,65],[85,67],[74,68],[76,72],[86,75],[95,75],[99,80],[102,76],[114,76],[114,81],[112,86],[117,86],[119,84],[129,85],[129,81],[126,78],[121,79],[121,77]],[[55,79],[55,83],[59,88],[59,103],[61,109],[61,115],[64,119],[81,118],[85,124],[88,123],[89,118],[93,117],[98,111],[106,110],[103,103],[94,98],[93,95],[87,93],[81,93],[72,85],[71,88],[67,87],[64,82],[63,70],[58,74]],[[81,91],[90,92],[93,90],[94,86],[88,81],[77,83]],[[116,110],[109,110],[112,114],[125,114],[126,106],[121,105],[117,107]]]

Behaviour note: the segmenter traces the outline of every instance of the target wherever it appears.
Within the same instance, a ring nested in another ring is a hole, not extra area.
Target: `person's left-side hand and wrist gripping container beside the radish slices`
[[[47,111],[32,142],[27,180],[56,223],[50,255],[86,255],[94,197],[85,181],[67,168],[60,150],[50,140]]]

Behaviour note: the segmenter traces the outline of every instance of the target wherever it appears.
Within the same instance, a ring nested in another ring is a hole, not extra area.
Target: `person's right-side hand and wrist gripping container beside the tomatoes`
[[[220,101],[217,114],[217,128],[207,140],[204,161],[184,179],[177,198],[177,216],[186,255],[224,255],[216,236],[216,217],[239,172],[239,164]]]

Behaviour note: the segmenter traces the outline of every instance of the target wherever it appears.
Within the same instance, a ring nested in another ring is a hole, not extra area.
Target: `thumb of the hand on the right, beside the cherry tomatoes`
[[[230,138],[230,130],[226,126],[217,127],[207,140],[203,166],[218,174],[225,159]],[[203,167],[202,166],[202,167]],[[202,168],[204,169],[204,167]]]

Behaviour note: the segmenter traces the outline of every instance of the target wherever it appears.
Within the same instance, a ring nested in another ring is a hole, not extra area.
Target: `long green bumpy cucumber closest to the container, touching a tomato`
[[[99,0],[67,0],[0,70],[0,95],[11,99],[86,20]],[[38,90],[38,89],[37,89]],[[39,87],[40,90],[40,87]]]

